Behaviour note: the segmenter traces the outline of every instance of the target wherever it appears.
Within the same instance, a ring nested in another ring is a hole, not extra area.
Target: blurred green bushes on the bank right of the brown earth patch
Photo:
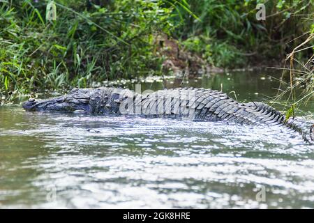
[[[311,25],[313,30],[313,0],[189,2],[190,10],[200,20],[195,20],[181,8],[180,16],[172,17],[174,25],[178,26],[174,34],[188,49],[197,49],[215,66],[236,67],[255,61],[281,61],[302,43],[304,38],[299,36]],[[256,19],[257,3],[264,3],[266,7],[264,21]],[[311,55],[304,52],[301,56]]]

